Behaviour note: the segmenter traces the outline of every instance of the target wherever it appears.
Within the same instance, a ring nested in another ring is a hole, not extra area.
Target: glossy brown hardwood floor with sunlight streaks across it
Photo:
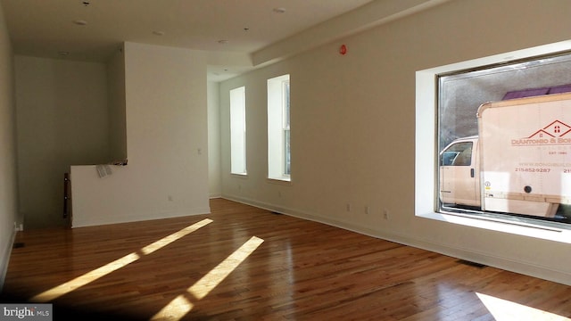
[[[227,200],[212,200],[211,210],[19,233],[24,246],[12,250],[0,301],[51,302],[54,320],[571,316],[563,284]]]

